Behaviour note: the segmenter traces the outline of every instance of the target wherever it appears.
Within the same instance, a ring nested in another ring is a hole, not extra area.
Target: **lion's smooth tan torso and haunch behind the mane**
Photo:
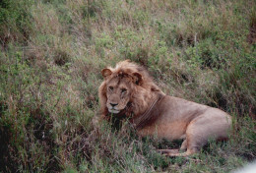
[[[210,138],[227,138],[230,117],[220,109],[168,95],[158,106],[160,118],[153,125],[139,130],[141,136],[188,139],[198,148]]]

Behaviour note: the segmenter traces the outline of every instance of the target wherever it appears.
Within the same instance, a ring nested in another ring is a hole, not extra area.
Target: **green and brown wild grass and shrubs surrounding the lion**
[[[256,158],[254,0],[0,2],[0,172],[228,172]],[[233,117],[189,158],[94,127],[100,70],[131,59],[167,94]]]

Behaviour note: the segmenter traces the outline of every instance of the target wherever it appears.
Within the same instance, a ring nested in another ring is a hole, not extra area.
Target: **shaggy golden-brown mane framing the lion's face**
[[[129,60],[119,62],[115,68],[109,67],[112,71],[112,74],[105,78],[100,87],[98,88],[98,97],[100,103],[100,112],[101,116],[106,116],[109,114],[106,107],[106,86],[107,83],[114,77],[118,75],[128,75],[132,77],[133,74],[140,74],[138,84],[133,84],[132,94],[130,97],[129,106],[122,112],[126,116],[131,114],[134,117],[140,116],[143,114],[151,105],[152,100],[157,99],[159,94],[164,94],[160,87],[158,87],[153,79],[150,77],[148,71],[135,63],[130,62]]]

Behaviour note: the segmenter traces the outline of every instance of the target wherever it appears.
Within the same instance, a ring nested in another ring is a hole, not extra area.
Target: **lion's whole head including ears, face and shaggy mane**
[[[104,81],[98,93],[104,116],[140,115],[161,92],[143,67],[128,60],[119,62],[115,68],[103,69],[101,74]]]

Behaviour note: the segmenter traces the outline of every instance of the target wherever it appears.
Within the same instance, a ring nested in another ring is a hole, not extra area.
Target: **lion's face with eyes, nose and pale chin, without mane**
[[[117,114],[123,110],[131,97],[131,81],[127,78],[116,77],[106,85],[106,107],[110,113]]]

